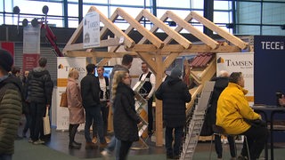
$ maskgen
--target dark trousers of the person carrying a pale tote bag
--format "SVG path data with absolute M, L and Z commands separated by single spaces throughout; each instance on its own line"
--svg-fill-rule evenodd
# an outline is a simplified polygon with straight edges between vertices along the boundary
M 44 137 L 44 135 L 42 135 L 44 133 L 43 117 L 45 116 L 46 105 L 44 103 L 31 102 L 29 108 L 31 116 L 29 128 L 30 138 L 33 141 L 36 141 L 38 140 L 39 136 Z

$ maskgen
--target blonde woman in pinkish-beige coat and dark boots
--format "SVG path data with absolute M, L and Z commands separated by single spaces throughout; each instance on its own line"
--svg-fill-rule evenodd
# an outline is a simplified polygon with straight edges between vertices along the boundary
M 84 108 L 80 88 L 77 82 L 79 73 L 77 69 L 72 68 L 69 71 L 68 85 L 66 93 L 68 97 L 69 108 L 69 148 L 81 148 L 81 143 L 74 140 L 79 124 L 85 123 Z

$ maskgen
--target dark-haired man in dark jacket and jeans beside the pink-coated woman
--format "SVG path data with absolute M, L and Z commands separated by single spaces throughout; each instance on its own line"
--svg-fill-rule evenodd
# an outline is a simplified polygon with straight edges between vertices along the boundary
M 80 82 L 82 105 L 85 108 L 85 149 L 91 149 L 96 147 L 90 137 L 90 127 L 92 125 L 93 120 L 97 126 L 97 132 L 100 140 L 100 148 L 105 148 L 107 146 L 103 134 L 103 120 L 99 96 L 101 90 L 99 80 L 96 76 L 94 76 L 94 69 L 94 64 L 88 64 L 86 66 L 87 75 Z

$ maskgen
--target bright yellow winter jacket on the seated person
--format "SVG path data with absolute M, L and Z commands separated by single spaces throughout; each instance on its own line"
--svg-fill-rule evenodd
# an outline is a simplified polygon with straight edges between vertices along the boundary
M 250 125 L 246 119 L 261 119 L 248 105 L 245 97 L 248 91 L 238 84 L 229 83 L 221 93 L 216 108 L 216 125 L 222 126 L 228 134 L 240 134 L 248 131 Z

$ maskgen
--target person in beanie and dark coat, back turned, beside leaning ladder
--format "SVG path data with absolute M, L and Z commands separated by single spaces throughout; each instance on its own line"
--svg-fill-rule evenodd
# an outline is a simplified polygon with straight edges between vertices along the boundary
M 186 124 L 185 103 L 191 101 L 191 93 L 183 83 L 182 71 L 175 67 L 167 80 L 160 84 L 155 93 L 157 99 L 162 100 L 163 123 L 166 126 L 165 141 L 167 158 L 178 159 L 183 137 L 183 127 Z M 175 130 L 175 139 L 173 131 Z M 172 142 L 175 140 L 174 147 Z

